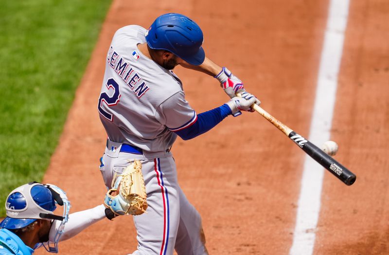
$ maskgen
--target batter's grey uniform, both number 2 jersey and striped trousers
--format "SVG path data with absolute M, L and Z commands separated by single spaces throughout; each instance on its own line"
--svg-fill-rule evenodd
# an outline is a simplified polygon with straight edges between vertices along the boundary
M 206 255 L 201 217 L 177 182 L 176 164 L 168 150 L 173 132 L 195 123 L 178 77 L 142 55 L 146 29 L 126 26 L 112 39 L 98 109 L 109 140 L 100 159 L 106 187 L 115 173 L 138 159 L 147 192 L 147 213 L 133 217 L 138 247 L 133 255 Z M 122 144 L 143 149 L 122 151 Z

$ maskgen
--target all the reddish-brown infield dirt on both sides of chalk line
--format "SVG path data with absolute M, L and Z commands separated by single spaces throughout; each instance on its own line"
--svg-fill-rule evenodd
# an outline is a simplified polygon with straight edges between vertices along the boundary
M 152 7 L 151 7 L 152 6 Z M 68 192 L 71 212 L 102 203 L 99 158 L 106 134 L 97 99 L 114 32 L 148 27 L 179 12 L 203 29 L 206 54 L 243 79 L 262 106 L 308 134 L 326 25 L 327 0 L 114 0 L 76 92 L 44 182 Z M 346 186 L 324 174 L 315 254 L 388 254 L 389 3 L 351 0 L 331 137 L 336 159 L 357 175 Z M 217 82 L 177 68 L 198 112 L 228 100 Z M 178 180 L 202 215 L 211 255 L 288 254 L 305 154 L 256 113 L 229 117 L 173 147 Z M 60 244 L 60 254 L 127 254 L 136 249 L 131 217 L 102 220 Z M 44 254 L 44 251 L 37 251 Z

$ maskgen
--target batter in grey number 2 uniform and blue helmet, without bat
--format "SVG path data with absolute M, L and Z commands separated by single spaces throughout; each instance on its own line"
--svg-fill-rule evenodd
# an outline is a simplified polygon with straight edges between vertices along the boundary
M 205 57 L 203 33 L 190 18 L 170 13 L 148 30 L 130 25 L 113 36 L 98 111 L 108 135 L 100 170 L 108 189 L 115 173 L 139 160 L 148 208 L 134 216 L 138 248 L 133 255 L 207 254 L 201 218 L 177 182 L 170 148 L 207 132 L 228 115 L 251 111 L 259 100 L 228 69 Z M 181 65 L 214 76 L 231 97 L 197 114 L 171 70 Z M 235 92 L 241 92 L 242 98 Z

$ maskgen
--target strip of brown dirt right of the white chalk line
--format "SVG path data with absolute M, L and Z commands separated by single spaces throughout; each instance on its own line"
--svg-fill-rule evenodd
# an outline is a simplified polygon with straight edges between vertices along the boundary
M 316 254 L 389 254 L 389 2 L 353 0 L 332 138 L 353 186 L 326 175 Z

